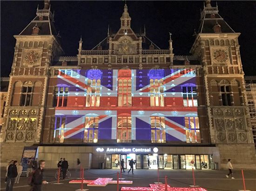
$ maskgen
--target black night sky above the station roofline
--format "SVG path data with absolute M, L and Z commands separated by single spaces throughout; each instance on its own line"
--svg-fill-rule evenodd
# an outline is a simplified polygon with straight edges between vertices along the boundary
M 241 32 L 241 58 L 245 75 L 256 75 L 256 1 L 217 1 L 219 14 Z M 1 76 L 8 76 L 13 62 L 15 39 L 34 19 L 40 1 L 0 1 L 1 6 Z M 211 2 L 212 6 L 216 1 Z M 168 48 L 172 32 L 175 55 L 189 55 L 197 31 L 203 1 L 127 1 L 135 32 L 143 31 L 161 49 Z M 83 49 L 92 49 L 107 37 L 108 24 L 113 32 L 120 27 L 124 1 L 51 1 L 55 26 L 60 30 L 66 56 L 75 56 L 82 35 Z

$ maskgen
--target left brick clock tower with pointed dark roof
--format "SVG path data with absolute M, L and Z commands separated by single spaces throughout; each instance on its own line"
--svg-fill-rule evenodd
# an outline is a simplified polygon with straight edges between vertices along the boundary
M 14 35 L 13 65 L 10 73 L 5 121 L 0 134 L 1 161 L 22 157 L 23 148 L 40 142 L 45 115 L 49 66 L 64 52 L 54 27 L 49 0 L 36 9 L 35 18 Z M 19 146 L 17 146 L 19 143 Z M 10 151 L 15 152 L 11 153 Z

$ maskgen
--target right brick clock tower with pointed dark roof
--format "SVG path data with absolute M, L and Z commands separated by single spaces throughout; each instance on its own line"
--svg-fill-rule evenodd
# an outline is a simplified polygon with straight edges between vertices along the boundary
M 253 163 L 255 153 L 239 51 L 239 32 L 220 16 L 218 6 L 206 0 L 190 53 L 200 57 L 204 79 L 210 140 L 216 144 L 221 167 L 227 159 Z M 250 152 L 243 151 L 250 146 Z M 236 156 L 235 156 L 236 155 Z M 248 155 L 248 156 L 247 156 Z

